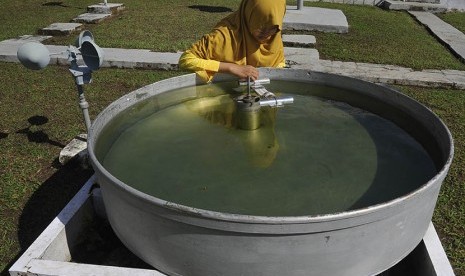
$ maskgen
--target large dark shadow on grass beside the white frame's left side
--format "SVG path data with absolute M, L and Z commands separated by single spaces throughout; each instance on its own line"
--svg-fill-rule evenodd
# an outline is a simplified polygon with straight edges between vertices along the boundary
M 55 161 L 55 163 L 58 163 Z M 59 166 L 53 164 L 53 166 Z M 49 177 L 30 197 L 18 222 L 18 240 L 21 251 L 5 267 L 0 275 L 9 275 L 8 270 L 32 242 L 42 233 L 71 198 L 93 174 L 78 161 L 71 160 Z

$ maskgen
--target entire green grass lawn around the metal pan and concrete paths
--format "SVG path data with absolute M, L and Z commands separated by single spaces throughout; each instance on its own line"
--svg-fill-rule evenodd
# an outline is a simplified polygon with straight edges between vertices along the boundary
M 132 0 L 125 3 L 127 10 L 120 15 L 85 27 L 102 47 L 180 51 L 235 10 L 239 2 Z M 0 40 L 36 34 L 39 28 L 54 22 L 68 22 L 84 13 L 90 4 L 95 2 L 4 1 L 0 9 Z M 370 6 L 306 5 L 341 9 L 350 25 L 348 34 L 312 32 L 322 58 L 416 69 L 465 70 L 463 63 L 407 13 Z M 441 15 L 459 29 L 464 28 L 464 16 Z M 74 40 L 72 35 L 47 43 L 68 45 Z M 19 64 L 0 63 L 0 72 L 0 271 L 7 275 L 11 264 L 92 171 L 75 164 L 63 167 L 56 160 L 61 148 L 85 131 L 68 68 L 49 66 L 30 71 Z M 95 118 L 110 102 L 138 87 L 178 74 L 182 72 L 101 69 L 93 74 L 94 82 L 85 86 L 90 115 Z M 454 162 L 441 189 L 434 223 L 455 273 L 465 275 L 465 91 L 399 89 L 436 112 L 455 139 Z

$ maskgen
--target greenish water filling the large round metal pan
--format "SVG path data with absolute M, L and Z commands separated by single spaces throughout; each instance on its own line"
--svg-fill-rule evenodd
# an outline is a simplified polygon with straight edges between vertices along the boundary
M 435 174 L 421 145 L 395 124 L 304 93 L 305 87 L 276 82 L 270 91 L 301 95 L 283 108 L 262 108 L 261 127 L 253 131 L 236 128 L 230 84 L 183 88 L 196 96 L 124 130 L 103 165 L 164 200 L 264 216 L 362 208 L 404 195 Z

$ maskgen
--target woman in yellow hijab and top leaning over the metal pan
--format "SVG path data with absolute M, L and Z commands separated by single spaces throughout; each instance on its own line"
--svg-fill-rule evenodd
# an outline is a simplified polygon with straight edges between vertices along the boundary
M 182 54 L 180 68 L 209 82 L 217 72 L 256 80 L 256 67 L 284 67 L 285 12 L 285 0 L 242 0 L 239 10 Z

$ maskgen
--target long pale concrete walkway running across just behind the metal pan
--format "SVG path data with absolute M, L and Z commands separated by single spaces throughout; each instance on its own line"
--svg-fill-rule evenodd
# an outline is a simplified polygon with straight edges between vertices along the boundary
M 19 62 L 18 48 L 32 38 L 11 39 L 0 42 L 0 61 Z M 67 46 L 46 45 L 51 56 L 51 64 L 68 65 Z M 149 50 L 128 50 L 103 48 L 102 67 L 145 68 L 176 70 L 181 53 L 158 53 Z M 316 49 L 284 47 L 290 67 L 327 72 L 360 78 L 363 80 L 387 83 L 416 85 L 423 87 L 445 87 L 465 89 L 465 71 L 458 70 L 413 70 L 394 65 L 341 62 L 319 59 Z M 78 63 L 82 64 L 78 56 Z

